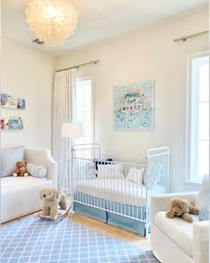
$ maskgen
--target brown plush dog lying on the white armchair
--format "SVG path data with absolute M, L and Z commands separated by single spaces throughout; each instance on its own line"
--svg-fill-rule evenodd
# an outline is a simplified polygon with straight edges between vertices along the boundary
M 173 198 L 171 200 L 171 210 L 166 212 L 166 218 L 180 217 L 186 222 L 192 223 L 190 214 L 198 215 L 199 210 L 195 207 L 194 201 Z

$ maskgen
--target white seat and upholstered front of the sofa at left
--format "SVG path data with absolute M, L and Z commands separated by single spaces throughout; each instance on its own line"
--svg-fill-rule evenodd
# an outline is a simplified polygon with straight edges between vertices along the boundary
M 1 223 L 41 210 L 39 191 L 45 187 L 52 187 L 52 180 L 30 176 L 1 178 Z

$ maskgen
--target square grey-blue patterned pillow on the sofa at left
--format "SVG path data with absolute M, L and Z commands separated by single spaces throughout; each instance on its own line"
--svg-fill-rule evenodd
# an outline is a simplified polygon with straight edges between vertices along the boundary
M 24 159 L 24 146 L 0 150 L 1 177 L 12 176 L 18 160 Z

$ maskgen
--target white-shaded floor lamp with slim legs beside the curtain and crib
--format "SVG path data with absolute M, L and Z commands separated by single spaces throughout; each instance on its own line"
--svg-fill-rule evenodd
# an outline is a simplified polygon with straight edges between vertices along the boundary
M 66 160 L 67 163 L 65 164 L 65 172 L 64 172 L 64 176 L 62 177 L 62 188 L 63 185 L 65 183 L 65 179 L 67 176 L 70 176 L 70 190 L 72 192 L 72 186 L 73 186 L 73 161 L 72 161 L 72 139 L 73 138 L 79 138 L 79 137 L 83 137 L 83 127 L 81 123 L 74 123 L 74 122 L 68 122 L 68 123 L 63 123 L 62 125 L 62 129 L 61 129 L 61 137 L 63 138 L 68 138 L 70 140 L 70 147 L 69 147 L 69 151 L 68 151 L 68 155 L 66 156 Z M 70 154 L 71 152 L 71 154 Z M 68 160 L 69 158 L 71 159 L 70 161 L 70 175 L 67 175 L 67 164 L 68 164 Z

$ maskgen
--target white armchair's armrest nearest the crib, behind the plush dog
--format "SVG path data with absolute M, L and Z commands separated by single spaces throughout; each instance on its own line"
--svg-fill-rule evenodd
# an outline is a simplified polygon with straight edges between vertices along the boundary
M 198 192 L 190 193 L 165 193 L 151 196 L 151 225 L 158 211 L 167 211 L 171 207 L 171 199 L 179 197 L 183 199 L 195 200 Z

